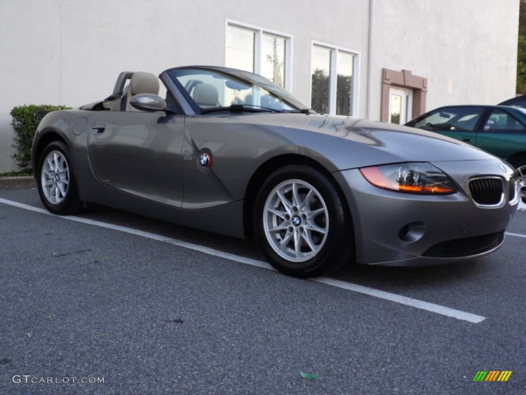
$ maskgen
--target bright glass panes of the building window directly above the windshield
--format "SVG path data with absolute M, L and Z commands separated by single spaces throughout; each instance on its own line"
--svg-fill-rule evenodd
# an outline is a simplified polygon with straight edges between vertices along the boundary
M 227 22 L 226 32 L 227 67 L 260 74 L 290 90 L 290 35 L 234 22 Z

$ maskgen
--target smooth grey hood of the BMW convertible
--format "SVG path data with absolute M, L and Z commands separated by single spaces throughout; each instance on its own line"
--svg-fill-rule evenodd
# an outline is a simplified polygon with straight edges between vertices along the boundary
M 397 162 L 495 160 L 495 156 L 420 129 L 343 116 L 296 113 L 235 115 L 232 120 L 279 134 L 326 157 L 333 170 Z

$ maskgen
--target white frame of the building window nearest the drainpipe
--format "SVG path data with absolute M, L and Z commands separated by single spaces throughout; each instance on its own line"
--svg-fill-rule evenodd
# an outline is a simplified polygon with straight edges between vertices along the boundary
M 312 107 L 312 48 L 314 46 L 325 48 L 330 51 L 330 68 L 329 68 L 329 115 L 336 115 L 336 92 L 338 83 L 338 53 L 346 53 L 353 56 L 352 61 L 352 105 L 349 116 L 358 116 L 359 110 L 359 92 L 360 92 L 360 60 L 361 53 L 350 48 L 332 45 L 321 41 L 312 40 L 310 43 L 310 89 L 309 89 L 309 106 Z

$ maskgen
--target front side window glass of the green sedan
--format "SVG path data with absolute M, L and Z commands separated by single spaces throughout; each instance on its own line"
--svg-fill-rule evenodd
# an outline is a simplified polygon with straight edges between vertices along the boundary
M 426 130 L 473 132 L 482 114 L 480 107 L 448 107 L 422 118 L 415 127 Z

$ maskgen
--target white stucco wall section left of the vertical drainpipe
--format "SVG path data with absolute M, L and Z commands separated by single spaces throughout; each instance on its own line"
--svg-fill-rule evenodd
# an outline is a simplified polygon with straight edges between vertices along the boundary
M 331 3 L 356 22 L 367 21 L 367 2 Z M 0 0 L 0 51 L 6 60 L 0 62 L 0 78 L 9 92 L 0 95 L 0 173 L 15 168 L 9 159 L 9 111 L 15 105 L 75 107 L 99 100 L 124 70 L 224 65 L 227 19 L 293 36 L 292 91 L 306 103 L 312 40 L 366 51 L 362 23 L 349 23 L 311 0 Z

